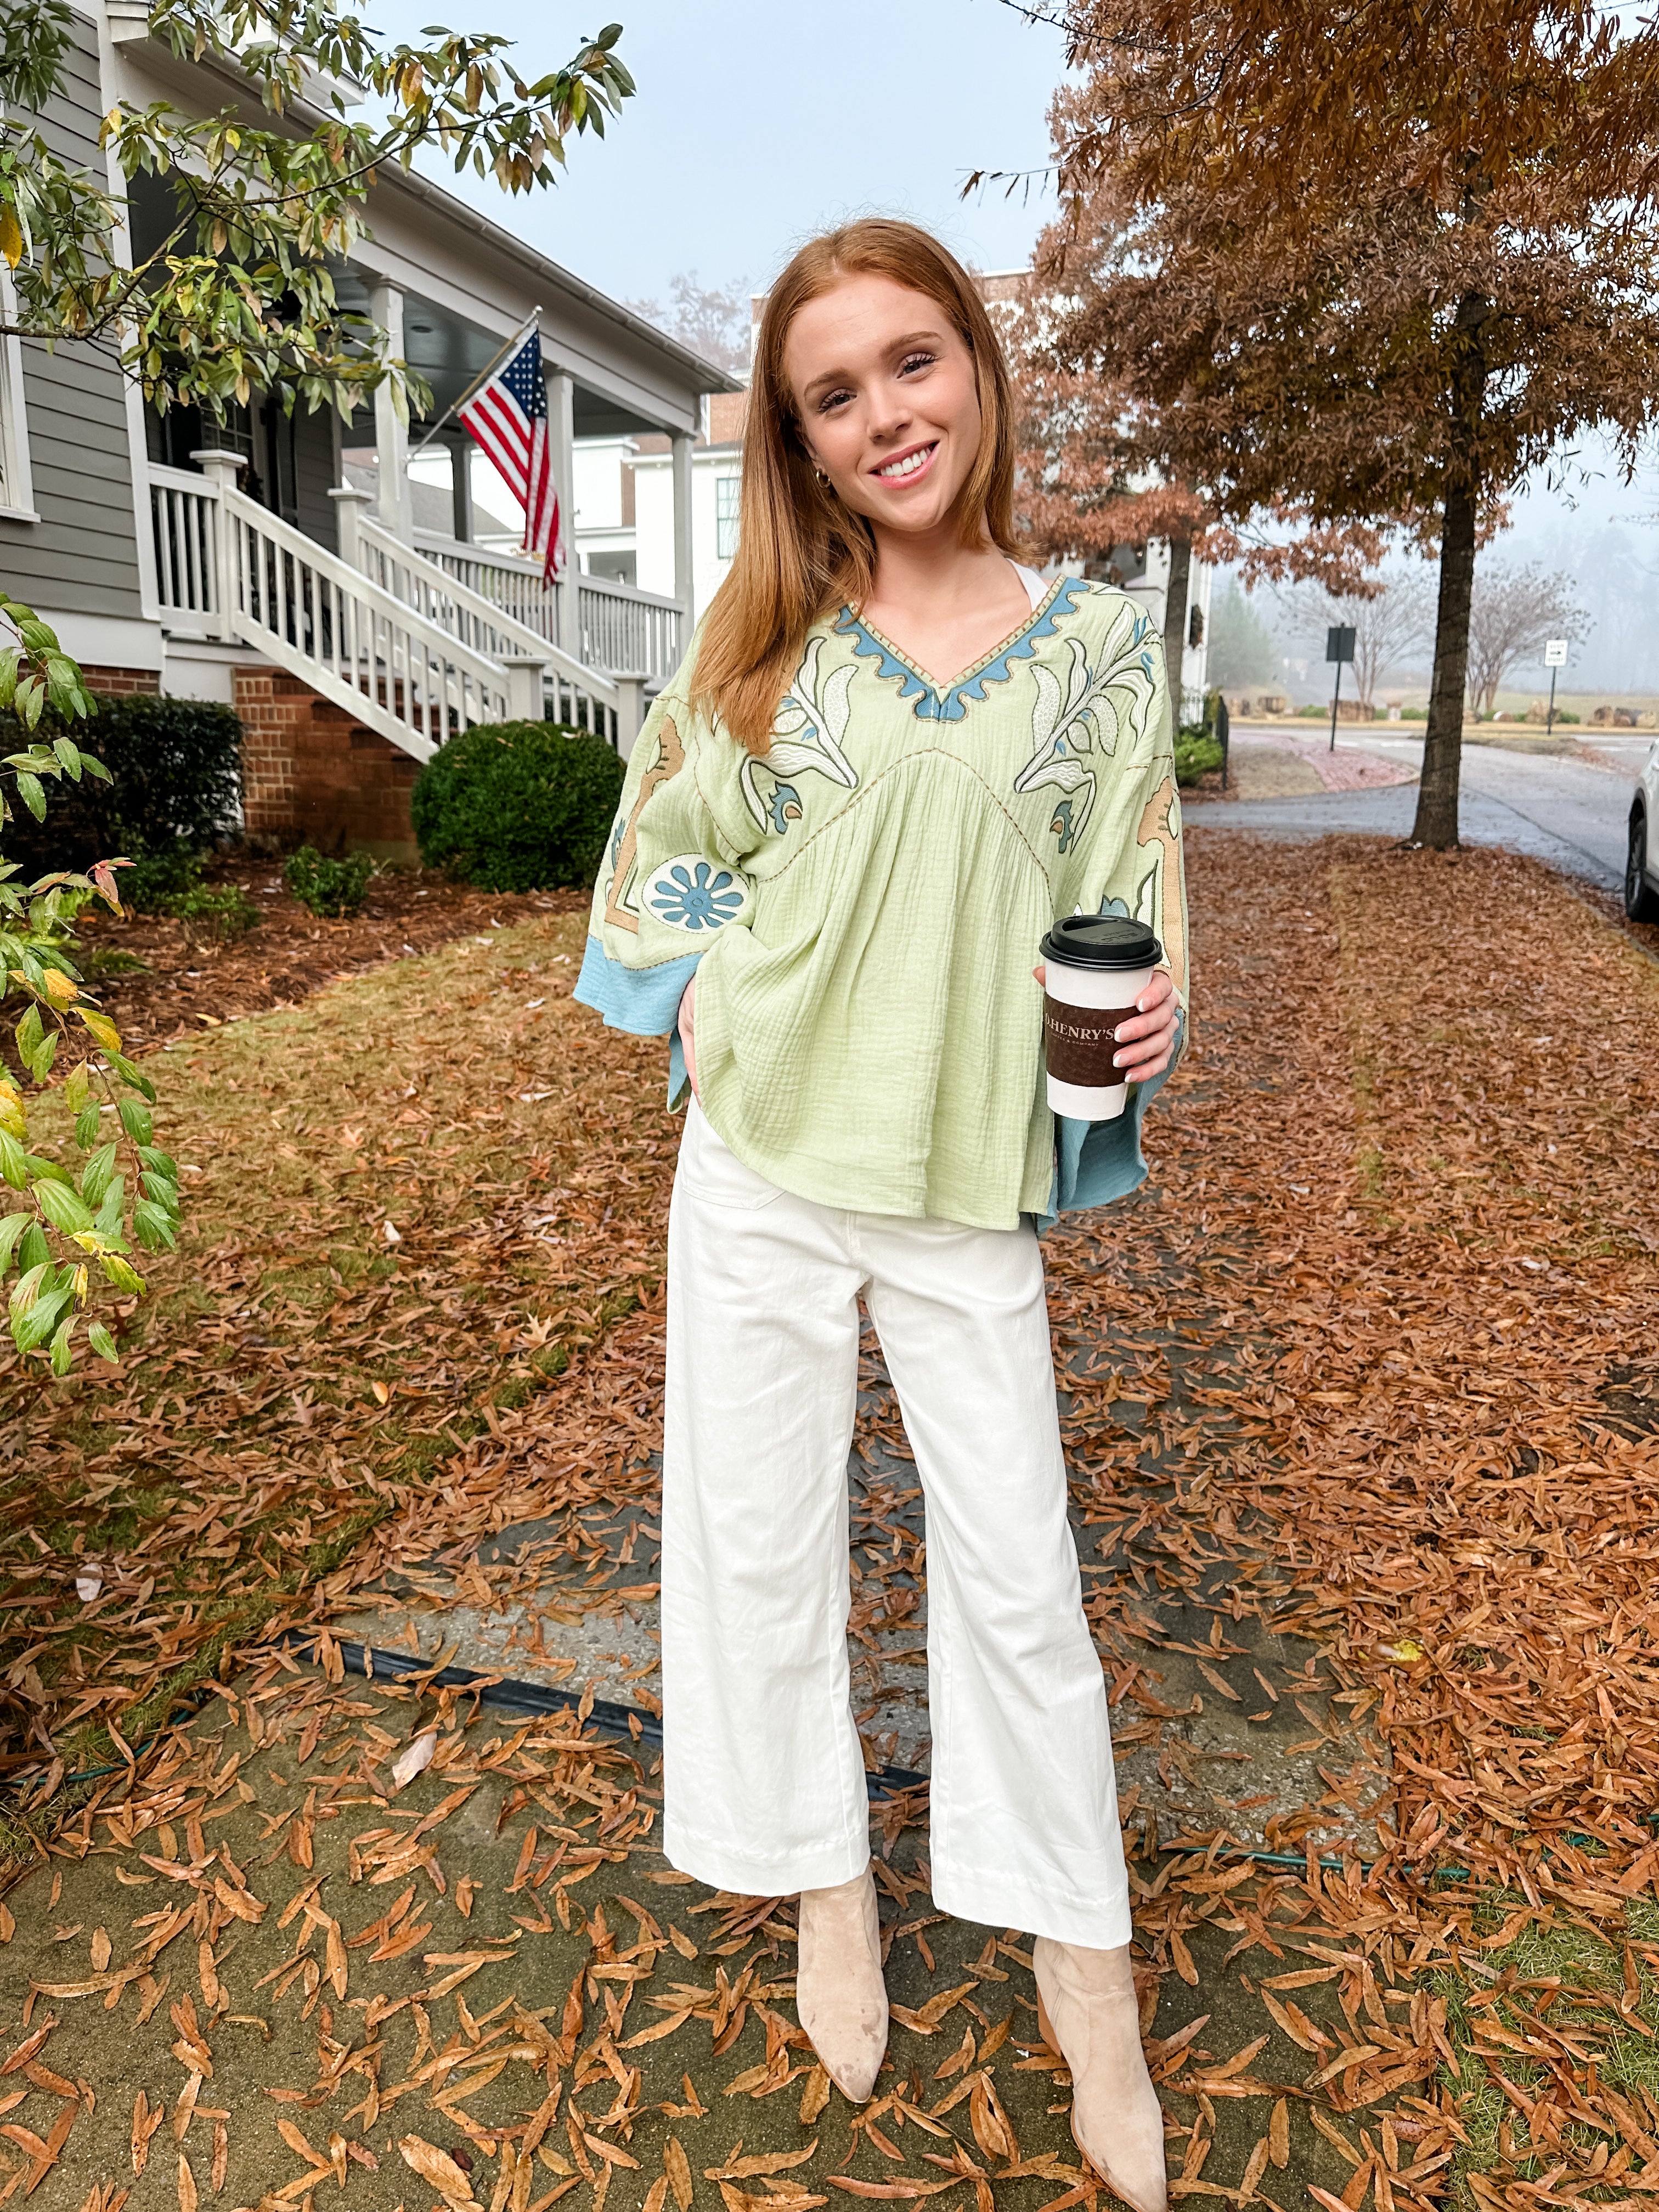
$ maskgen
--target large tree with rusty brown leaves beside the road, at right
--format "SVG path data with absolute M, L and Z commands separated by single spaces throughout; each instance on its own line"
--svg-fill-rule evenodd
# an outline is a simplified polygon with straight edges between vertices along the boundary
M 1413 841 L 1458 843 L 1475 549 L 1659 414 L 1659 29 L 1586 0 L 1077 0 L 1044 241 L 1055 365 L 1228 529 L 1440 549 Z

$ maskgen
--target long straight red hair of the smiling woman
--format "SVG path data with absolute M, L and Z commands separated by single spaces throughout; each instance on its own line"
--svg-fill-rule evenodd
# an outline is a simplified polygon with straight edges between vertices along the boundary
M 980 396 L 980 449 L 958 500 L 958 535 L 964 546 L 989 538 L 1013 553 L 1013 394 L 973 279 L 916 223 L 872 217 L 812 239 L 772 285 L 761 316 L 737 560 L 714 593 L 692 672 L 692 703 L 719 714 L 757 754 L 770 750 L 779 699 L 812 624 L 836 606 L 860 606 L 876 580 L 869 524 L 818 482 L 783 374 L 796 314 L 843 276 L 889 276 L 949 314 L 973 356 Z

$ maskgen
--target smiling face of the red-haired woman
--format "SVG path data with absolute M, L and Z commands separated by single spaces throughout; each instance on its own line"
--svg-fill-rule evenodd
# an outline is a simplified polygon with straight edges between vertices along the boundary
M 796 420 L 836 495 L 878 531 L 949 524 L 980 451 L 973 354 L 949 314 L 891 276 L 843 276 L 783 345 Z

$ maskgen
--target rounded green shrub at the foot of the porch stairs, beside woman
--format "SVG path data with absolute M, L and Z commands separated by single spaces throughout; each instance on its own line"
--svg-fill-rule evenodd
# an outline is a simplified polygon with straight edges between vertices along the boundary
M 586 887 L 599 874 L 622 779 L 622 761 L 591 730 L 553 721 L 462 730 L 416 779 L 420 858 L 482 891 Z

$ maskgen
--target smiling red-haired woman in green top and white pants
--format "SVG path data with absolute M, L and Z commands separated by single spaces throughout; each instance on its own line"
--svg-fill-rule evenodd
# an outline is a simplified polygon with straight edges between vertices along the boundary
M 577 995 L 672 1035 L 670 1104 L 692 1093 L 664 1849 L 721 1889 L 801 1891 L 801 2024 L 863 2101 L 887 2046 L 845 1646 L 863 1296 L 927 1498 L 933 1898 L 1035 1931 L 1077 2143 L 1152 2212 L 1035 1223 L 1146 1172 L 1186 980 L 1179 807 L 1146 617 L 1020 568 L 1011 498 L 969 276 L 907 223 L 805 246 L 761 321 L 737 562 L 635 745 Z M 1077 909 L 1152 922 L 1168 962 L 1119 1037 L 1130 1110 L 1097 1126 L 1044 1104 L 1033 960 Z

